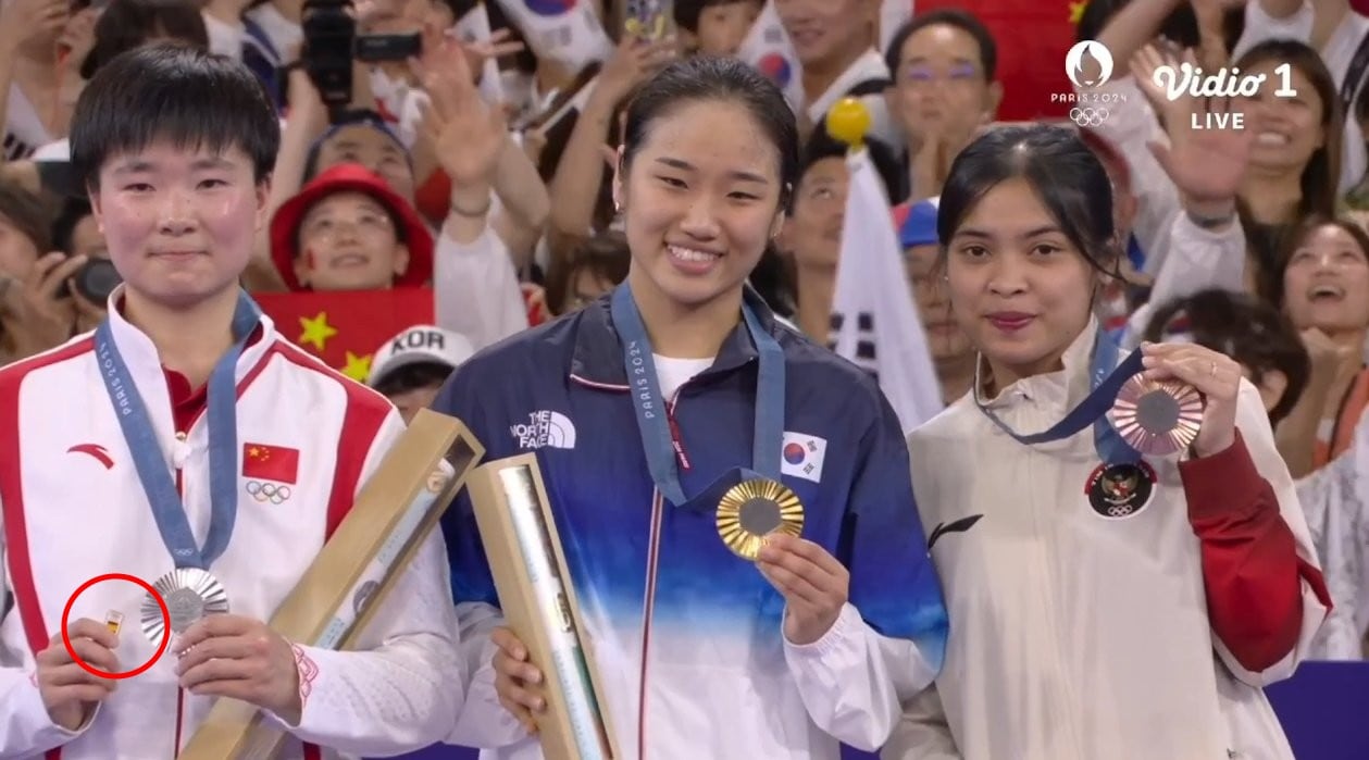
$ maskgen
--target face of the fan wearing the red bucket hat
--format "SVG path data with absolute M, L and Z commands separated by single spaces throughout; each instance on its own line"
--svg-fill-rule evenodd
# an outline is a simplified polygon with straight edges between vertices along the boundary
M 315 203 L 300 220 L 296 277 L 315 290 L 390 288 L 408 267 L 394 219 L 364 193 L 340 192 Z

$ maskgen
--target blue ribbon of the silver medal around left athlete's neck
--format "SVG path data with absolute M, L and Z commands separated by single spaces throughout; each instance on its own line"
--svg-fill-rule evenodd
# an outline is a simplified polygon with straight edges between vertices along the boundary
M 157 522 L 162 541 L 178 568 L 196 567 L 208 570 L 209 564 L 229 546 L 233 523 L 237 518 L 237 381 L 235 370 L 248 337 L 257 326 L 261 311 L 245 292 L 240 292 L 238 304 L 233 312 L 233 348 L 219 359 L 209 374 L 209 531 L 204 548 L 196 545 L 185 504 L 177 492 L 175 481 L 162 459 L 162 445 L 157 442 L 148 416 L 146 405 L 138 393 L 127 364 L 119 355 L 110 327 L 110 318 L 94 331 L 96 359 L 100 362 L 100 378 L 110 393 L 115 416 L 123 430 L 123 440 L 133 455 L 133 466 L 138 481 L 152 505 L 152 516 Z

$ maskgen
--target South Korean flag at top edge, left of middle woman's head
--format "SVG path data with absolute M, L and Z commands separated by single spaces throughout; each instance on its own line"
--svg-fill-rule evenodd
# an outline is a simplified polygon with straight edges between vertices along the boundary
M 578 73 L 606 60 L 613 42 L 589 0 L 498 0 L 533 53 Z

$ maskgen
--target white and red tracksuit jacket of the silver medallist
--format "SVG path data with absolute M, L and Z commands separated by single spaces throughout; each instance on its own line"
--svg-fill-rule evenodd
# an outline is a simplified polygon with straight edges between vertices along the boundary
M 203 545 L 211 514 L 207 415 L 177 430 L 156 348 L 112 308 L 119 297 L 110 308 L 114 340 Z M 170 652 L 119 681 L 78 731 L 51 722 L 36 685 L 34 655 L 60 630 L 77 589 L 108 572 L 152 583 L 174 567 L 93 346 L 81 335 L 0 370 L 0 759 L 171 759 L 214 702 L 178 687 Z M 237 383 L 237 520 L 209 570 L 226 587 L 231 613 L 270 620 L 402 422 L 382 396 L 283 340 L 267 318 L 238 360 Z M 296 466 L 249 466 L 245 452 L 253 445 L 297 457 Z M 123 671 L 156 652 L 140 630 L 144 594 L 131 582 L 105 581 L 70 601 L 71 620 L 123 613 L 115 650 Z M 397 755 L 446 737 L 461 701 L 455 630 L 445 548 L 434 534 L 359 650 L 297 649 L 301 722 L 289 727 L 268 715 L 294 737 L 283 756 Z

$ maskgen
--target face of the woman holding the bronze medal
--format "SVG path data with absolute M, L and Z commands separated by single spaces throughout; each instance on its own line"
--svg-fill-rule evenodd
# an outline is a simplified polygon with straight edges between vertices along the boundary
M 1088 325 L 1097 277 L 1023 178 L 994 185 L 947 245 L 951 312 L 998 388 L 1060 367 Z

